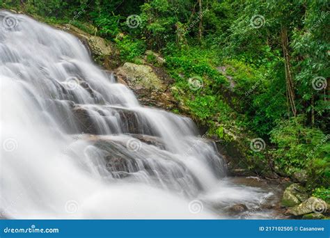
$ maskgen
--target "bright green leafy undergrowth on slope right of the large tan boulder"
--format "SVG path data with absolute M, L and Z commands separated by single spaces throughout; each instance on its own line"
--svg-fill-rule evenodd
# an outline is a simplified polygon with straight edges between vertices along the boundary
M 212 61 L 207 55 L 212 51 L 197 51 L 195 48 L 175 51 L 174 55 L 166 57 L 166 68 L 175 79 L 175 86 L 178 92 L 175 95 L 178 100 L 189 106 L 191 113 L 198 120 L 207 122 L 217 119 L 220 111 L 223 115 L 229 113 L 229 106 L 223 102 L 221 95 L 217 94 L 221 88 L 228 86 L 226 77 L 212 66 Z M 188 53 L 188 54 L 187 54 Z M 189 79 L 194 77 L 202 81 L 201 88 L 191 89 Z

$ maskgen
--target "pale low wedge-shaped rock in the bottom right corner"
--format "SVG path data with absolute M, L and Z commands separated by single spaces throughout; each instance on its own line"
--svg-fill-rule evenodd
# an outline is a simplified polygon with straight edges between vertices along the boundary
M 311 197 L 297 206 L 288 209 L 287 213 L 294 216 L 309 214 L 309 213 L 321 214 L 327 212 L 327 203 L 320 198 Z

